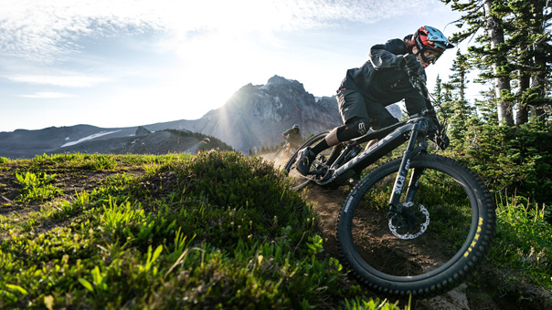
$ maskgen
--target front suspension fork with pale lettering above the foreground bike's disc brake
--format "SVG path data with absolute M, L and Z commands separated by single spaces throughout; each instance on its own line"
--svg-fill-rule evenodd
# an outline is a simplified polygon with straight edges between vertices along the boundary
M 389 199 L 389 206 L 391 207 L 391 209 L 398 206 L 400 195 L 402 194 L 404 189 L 404 183 L 407 180 L 407 176 L 409 174 L 410 160 L 415 154 L 418 153 L 418 150 L 415 150 L 415 147 L 416 139 L 418 138 L 419 128 L 420 125 L 415 124 L 414 128 L 410 131 L 409 145 L 407 146 L 407 150 L 405 150 L 402 156 L 402 160 L 400 161 L 397 178 L 395 179 L 395 184 L 393 185 L 393 192 L 391 193 L 391 198 Z M 416 187 L 418 186 L 421 172 L 423 172 L 423 170 L 412 170 L 412 176 L 410 177 L 407 190 L 406 202 L 410 202 L 413 199 L 414 194 L 416 193 Z

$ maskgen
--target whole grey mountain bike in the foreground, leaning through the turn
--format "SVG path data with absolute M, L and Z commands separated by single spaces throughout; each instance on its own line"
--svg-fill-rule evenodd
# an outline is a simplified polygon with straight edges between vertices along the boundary
M 324 151 L 307 176 L 295 171 L 298 152 L 284 170 L 301 182 L 295 189 L 308 182 L 327 188 L 351 184 L 336 227 L 345 265 L 381 294 L 425 297 L 449 291 L 472 274 L 490 250 L 496 222 L 483 181 L 462 163 L 430 153 L 428 140 L 446 127 L 424 80 L 410 82 L 428 109 Z M 313 135 L 300 150 L 329 132 Z M 377 143 L 363 150 L 371 140 Z M 364 174 L 405 144 L 402 157 Z

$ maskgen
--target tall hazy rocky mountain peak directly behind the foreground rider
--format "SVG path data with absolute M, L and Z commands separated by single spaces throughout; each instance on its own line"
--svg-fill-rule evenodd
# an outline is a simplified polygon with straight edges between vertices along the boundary
M 334 97 L 316 100 L 296 80 L 273 76 L 265 85 L 248 84 L 220 109 L 186 122 L 183 129 L 218 137 L 249 152 L 278 145 L 281 133 L 299 124 L 306 138 L 341 123 Z

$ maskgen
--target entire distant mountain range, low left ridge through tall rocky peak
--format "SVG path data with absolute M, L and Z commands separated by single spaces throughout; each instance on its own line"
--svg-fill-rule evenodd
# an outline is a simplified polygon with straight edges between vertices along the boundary
M 392 113 L 399 115 L 400 109 L 395 108 Z M 305 138 L 322 129 L 342 124 L 335 96 L 314 98 L 303 88 L 302 83 L 274 76 L 265 85 L 248 84 L 239 88 L 224 106 L 208 111 L 200 119 L 180 119 L 126 128 L 76 125 L 0 132 L 0 156 L 11 159 L 32 158 L 44 153 L 69 151 L 192 153 L 194 143 L 200 141 L 189 140 L 188 145 L 181 140 L 172 140 L 174 135 L 170 132 L 158 133 L 165 129 L 214 137 L 229 148 L 249 153 L 249 150 L 279 144 L 281 133 L 293 124 L 301 127 Z M 151 134 L 147 134 L 148 131 Z M 139 148 L 133 140 L 141 140 L 140 143 L 147 145 L 147 148 Z

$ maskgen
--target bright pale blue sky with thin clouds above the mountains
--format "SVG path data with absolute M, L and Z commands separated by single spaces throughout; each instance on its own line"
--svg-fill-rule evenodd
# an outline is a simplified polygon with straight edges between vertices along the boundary
M 279 75 L 332 96 L 369 47 L 460 15 L 439 0 L 0 0 L 0 131 L 199 119 Z M 445 27 L 446 26 L 446 27 Z M 465 47 L 460 47 L 462 52 Z M 426 71 L 450 75 L 455 50 Z

